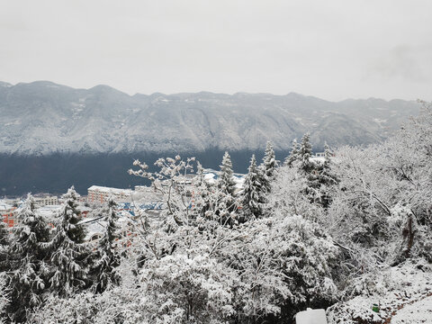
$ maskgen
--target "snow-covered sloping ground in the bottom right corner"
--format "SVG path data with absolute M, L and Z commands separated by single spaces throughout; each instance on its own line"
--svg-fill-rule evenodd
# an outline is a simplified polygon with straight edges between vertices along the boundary
M 432 269 L 428 264 L 390 267 L 358 284 L 365 293 L 330 307 L 329 324 L 432 323 Z M 374 303 L 380 311 L 372 311 Z

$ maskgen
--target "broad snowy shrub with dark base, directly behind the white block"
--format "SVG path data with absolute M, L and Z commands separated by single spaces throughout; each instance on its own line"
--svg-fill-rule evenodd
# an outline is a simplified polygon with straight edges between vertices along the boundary
M 242 225 L 218 256 L 238 271 L 238 318 L 291 319 L 307 306 L 335 302 L 339 249 L 317 223 L 277 215 Z

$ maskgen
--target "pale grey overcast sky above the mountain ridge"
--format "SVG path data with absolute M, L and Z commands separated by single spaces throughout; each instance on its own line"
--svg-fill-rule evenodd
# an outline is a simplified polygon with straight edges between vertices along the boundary
M 431 0 L 0 0 L 0 80 L 432 100 Z

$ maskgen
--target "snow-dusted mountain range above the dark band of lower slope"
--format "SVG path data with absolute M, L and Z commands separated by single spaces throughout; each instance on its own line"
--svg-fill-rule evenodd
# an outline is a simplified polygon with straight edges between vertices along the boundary
M 291 148 L 309 131 L 322 149 L 381 141 L 419 112 L 412 101 L 329 102 L 302 94 L 122 93 L 48 81 L 0 83 L 0 154 L 197 152 Z

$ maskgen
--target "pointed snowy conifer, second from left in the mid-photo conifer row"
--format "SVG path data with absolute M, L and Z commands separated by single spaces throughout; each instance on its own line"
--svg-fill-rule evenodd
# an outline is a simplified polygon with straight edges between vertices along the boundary
M 266 202 L 266 196 L 264 195 L 265 188 L 263 188 L 263 184 L 261 184 L 261 179 L 262 176 L 257 167 L 257 160 L 255 155 L 252 155 L 245 178 L 245 184 L 243 185 L 243 192 L 241 193 L 244 220 L 263 216 L 263 203 Z

